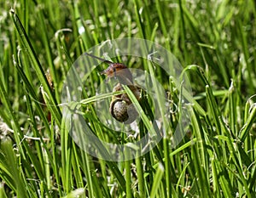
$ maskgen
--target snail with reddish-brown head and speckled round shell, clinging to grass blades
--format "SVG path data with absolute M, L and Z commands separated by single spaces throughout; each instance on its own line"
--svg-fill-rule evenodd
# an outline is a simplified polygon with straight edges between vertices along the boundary
M 107 63 L 109 65 L 105 71 L 101 72 L 101 74 L 104 74 L 108 77 L 116 77 L 119 80 L 119 83 L 113 88 L 113 92 L 123 90 L 122 84 L 125 84 L 128 86 L 128 88 L 131 89 L 137 100 L 140 99 L 141 89 L 133 84 L 131 71 L 124 64 L 113 63 L 111 61 L 108 61 L 107 59 L 102 59 L 92 54 L 85 54 L 89 55 L 92 58 L 100 59 L 104 63 Z M 114 119 L 125 124 L 130 124 L 131 122 L 134 122 L 138 116 L 137 110 L 131 103 L 131 100 L 126 93 L 122 93 L 112 97 L 109 112 Z

